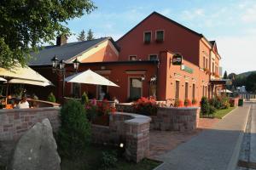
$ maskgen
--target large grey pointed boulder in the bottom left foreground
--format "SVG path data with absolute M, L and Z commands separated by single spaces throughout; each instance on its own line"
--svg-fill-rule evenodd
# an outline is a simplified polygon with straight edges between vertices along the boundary
M 18 141 L 11 170 L 60 170 L 61 158 L 48 119 L 36 123 Z

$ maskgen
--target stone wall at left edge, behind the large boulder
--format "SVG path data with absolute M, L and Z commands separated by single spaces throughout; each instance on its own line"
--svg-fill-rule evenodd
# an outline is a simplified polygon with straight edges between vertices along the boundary
M 56 132 L 60 107 L 0 110 L 0 140 L 16 140 L 36 122 L 48 118 Z

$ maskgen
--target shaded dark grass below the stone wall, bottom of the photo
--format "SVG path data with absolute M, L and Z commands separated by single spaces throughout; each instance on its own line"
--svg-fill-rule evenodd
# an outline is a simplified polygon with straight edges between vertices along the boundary
M 91 145 L 85 151 L 83 156 L 80 156 L 75 160 L 68 160 L 61 158 L 61 170 L 102 170 L 102 151 L 115 150 L 113 148 L 108 148 L 108 146 L 96 146 Z M 124 158 L 118 157 L 118 161 L 113 168 L 108 168 L 109 170 L 152 170 L 154 167 L 160 165 L 160 161 L 153 161 L 144 159 L 139 163 L 134 163 L 130 161 L 125 161 Z

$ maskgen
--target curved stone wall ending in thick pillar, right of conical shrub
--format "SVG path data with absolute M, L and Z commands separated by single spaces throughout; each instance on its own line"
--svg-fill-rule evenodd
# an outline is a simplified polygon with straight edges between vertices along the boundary
M 149 152 L 151 118 L 132 113 L 116 112 L 110 116 L 109 127 L 92 125 L 93 141 L 97 144 L 125 144 L 125 156 L 141 161 Z

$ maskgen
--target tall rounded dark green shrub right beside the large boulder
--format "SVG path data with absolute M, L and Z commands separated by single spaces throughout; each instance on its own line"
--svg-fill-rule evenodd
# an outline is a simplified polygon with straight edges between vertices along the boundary
M 90 143 L 90 123 L 86 118 L 84 106 L 71 99 L 61 108 L 61 127 L 58 144 L 61 156 L 75 158 Z

